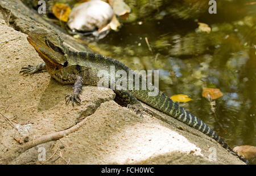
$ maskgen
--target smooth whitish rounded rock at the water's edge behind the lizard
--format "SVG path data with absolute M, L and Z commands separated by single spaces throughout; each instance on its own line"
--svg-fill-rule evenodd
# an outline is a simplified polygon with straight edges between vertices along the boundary
M 108 24 L 113 15 L 112 8 L 106 2 L 100 0 L 84 2 L 72 9 L 68 27 L 77 31 L 93 31 Z

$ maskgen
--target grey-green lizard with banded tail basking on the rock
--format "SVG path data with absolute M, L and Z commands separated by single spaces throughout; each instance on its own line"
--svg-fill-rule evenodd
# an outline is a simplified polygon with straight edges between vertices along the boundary
M 100 78 L 98 77 L 98 72 L 106 70 L 109 73 L 111 66 L 115 66 L 115 68 L 117 68 L 116 70 L 123 70 L 126 73 L 131 72 L 135 76 L 138 76 L 141 82 L 146 79 L 142 75 L 130 70 L 130 68 L 123 63 L 108 56 L 71 50 L 64 46 L 63 38 L 56 33 L 51 33 L 44 29 L 36 29 L 29 32 L 27 40 L 35 48 L 44 62 L 37 66 L 28 65 L 27 67 L 22 67 L 20 73 L 30 75 L 42 70 L 47 70 L 52 78 L 60 83 L 74 84 L 73 92 L 70 95 L 65 96 L 66 104 L 68 104 L 69 101 L 72 102 L 72 105 L 74 105 L 75 102 L 81 104 L 80 94 L 82 85 L 99 85 Z M 110 74 L 110 76 L 106 76 L 105 79 L 111 87 L 111 80 L 117 81 L 118 78 L 117 76 L 111 76 Z M 234 152 L 232 148 L 230 148 L 229 145 L 212 130 L 212 128 L 201 121 L 201 119 L 195 117 L 195 115 L 189 113 L 177 102 L 172 101 L 170 97 L 154 87 L 152 83 L 149 83 L 148 85 L 153 87 L 154 90 L 157 90 L 158 93 L 155 96 L 148 96 L 148 93 L 152 92 L 152 89 L 149 89 L 149 86 L 146 89 L 142 89 L 142 85 L 139 85 L 139 89 L 136 89 L 134 81 L 131 84 L 133 86 L 129 90 L 112 87 L 116 97 L 118 97 L 124 105 L 127 105 L 127 108 L 134 110 L 137 114 L 140 113 L 141 116 L 143 113 L 152 115 L 150 110 L 143 108 L 141 102 L 139 102 L 140 100 L 152 108 L 162 111 L 163 113 L 184 122 L 186 125 L 203 132 L 205 135 L 216 140 L 227 151 L 230 151 L 240 158 L 240 160 L 247 163 L 247 161 Z

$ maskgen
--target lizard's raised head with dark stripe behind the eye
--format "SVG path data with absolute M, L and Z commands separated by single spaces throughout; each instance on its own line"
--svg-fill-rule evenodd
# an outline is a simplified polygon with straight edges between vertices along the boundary
M 38 51 L 44 62 L 64 67 L 68 65 L 68 50 L 63 45 L 63 39 L 57 34 L 44 29 L 36 29 L 28 33 L 27 40 Z

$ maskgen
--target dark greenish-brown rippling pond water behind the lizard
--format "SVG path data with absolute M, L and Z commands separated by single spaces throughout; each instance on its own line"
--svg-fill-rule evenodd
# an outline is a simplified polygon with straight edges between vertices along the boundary
M 208 123 L 230 147 L 256 146 L 255 11 L 256 5 L 234 1 L 224 3 L 217 14 L 205 12 L 193 20 L 145 19 L 139 21 L 142 24 L 122 24 L 118 32 L 92 45 L 133 70 L 159 70 L 160 90 L 168 96 L 191 97 L 193 101 L 181 105 Z M 198 32 L 197 22 L 208 24 L 212 31 Z M 216 117 L 201 95 L 205 85 L 224 94 L 214 101 Z

